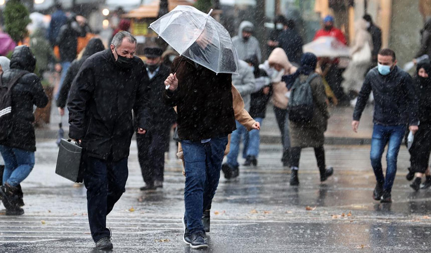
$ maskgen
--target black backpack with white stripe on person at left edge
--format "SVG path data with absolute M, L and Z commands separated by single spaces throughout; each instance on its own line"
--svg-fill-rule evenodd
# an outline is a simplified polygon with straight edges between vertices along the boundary
M 0 140 L 7 137 L 10 131 L 12 118 L 12 89 L 18 80 L 27 74 L 27 71 L 20 71 L 14 75 L 7 85 L 3 85 L 3 73 L 0 75 Z

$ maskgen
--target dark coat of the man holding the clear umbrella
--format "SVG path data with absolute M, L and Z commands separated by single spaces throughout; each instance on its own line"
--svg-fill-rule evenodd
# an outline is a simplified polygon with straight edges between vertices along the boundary
M 232 74 L 208 70 L 182 57 L 176 57 L 178 88 L 164 92 L 164 103 L 177 106 L 178 137 L 200 141 L 228 136 L 236 129 L 232 102 Z

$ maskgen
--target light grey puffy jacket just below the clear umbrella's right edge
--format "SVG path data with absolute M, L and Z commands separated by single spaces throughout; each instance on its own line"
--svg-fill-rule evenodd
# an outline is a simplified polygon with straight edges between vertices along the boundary
M 255 90 L 255 76 L 253 75 L 252 68 L 245 61 L 238 61 L 238 72 L 232 74 L 232 84 L 240 92 L 244 100 L 244 108 L 250 110 L 250 95 Z

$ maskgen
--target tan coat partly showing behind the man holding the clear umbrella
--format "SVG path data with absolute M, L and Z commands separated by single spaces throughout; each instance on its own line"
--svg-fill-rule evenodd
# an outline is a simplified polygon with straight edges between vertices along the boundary
M 232 85 L 232 101 L 234 107 L 235 119 L 240 122 L 241 125 L 247 128 L 247 131 L 252 130 L 253 124 L 255 124 L 255 120 L 250 116 L 250 114 L 244 109 L 244 101 L 240 95 L 240 92 Z M 225 155 L 229 154 L 230 144 L 231 144 L 231 135 L 228 136 L 229 142 L 226 145 Z M 181 159 L 184 162 L 184 154 L 182 151 L 181 143 L 178 143 L 178 153 L 176 153 L 178 159 Z M 184 171 L 183 171 L 184 173 Z

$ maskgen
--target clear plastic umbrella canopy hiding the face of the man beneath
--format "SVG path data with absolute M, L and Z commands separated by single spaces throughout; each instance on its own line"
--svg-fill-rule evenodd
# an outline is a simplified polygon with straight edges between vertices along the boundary
M 191 6 L 177 6 L 150 24 L 180 55 L 215 73 L 238 74 L 238 58 L 229 32 Z

